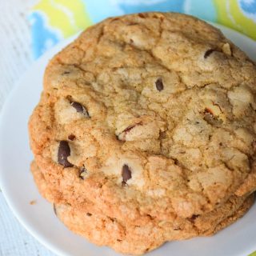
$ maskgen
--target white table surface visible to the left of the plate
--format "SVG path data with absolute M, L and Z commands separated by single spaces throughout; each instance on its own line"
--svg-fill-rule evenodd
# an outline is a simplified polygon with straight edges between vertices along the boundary
M 33 63 L 26 14 L 36 1 L 0 0 L 0 110 L 15 82 Z M 19 224 L 2 192 L 0 256 L 54 256 Z

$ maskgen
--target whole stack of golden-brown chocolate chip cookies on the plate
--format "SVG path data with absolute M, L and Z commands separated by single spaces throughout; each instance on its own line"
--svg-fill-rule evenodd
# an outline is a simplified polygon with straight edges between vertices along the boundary
M 29 123 L 41 194 L 125 254 L 207 236 L 254 202 L 256 66 L 197 18 L 91 26 L 46 68 Z

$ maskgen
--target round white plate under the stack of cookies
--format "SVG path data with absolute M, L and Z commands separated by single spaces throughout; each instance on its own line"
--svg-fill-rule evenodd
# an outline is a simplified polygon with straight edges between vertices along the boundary
M 218 27 L 250 58 L 256 60 L 256 43 L 253 40 L 226 27 Z M 28 142 L 27 122 L 39 100 L 42 74 L 50 58 L 73 39 L 56 46 L 35 62 L 6 100 L 0 119 L 0 185 L 18 220 L 54 253 L 72 256 L 119 255 L 109 248 L 94 246 L 67 230 L 55 217 L 50 203 L 38 194 L 30 174 L 33 157 Z M 31 206 L 31 200 L 36 200 L 36 204 Z M 245 256 L 256 250 L 255 214 L 256 204 L 245 217 L 214 237 L 167 242 L 147 255 Z

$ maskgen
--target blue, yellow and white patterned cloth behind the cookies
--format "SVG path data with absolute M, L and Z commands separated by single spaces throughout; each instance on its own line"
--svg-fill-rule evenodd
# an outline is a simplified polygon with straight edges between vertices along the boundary
M 256 40 L 256 0 L 40 0 L 29 16 L 34 57 L 103 18 L 143 11 L 191 14 Z

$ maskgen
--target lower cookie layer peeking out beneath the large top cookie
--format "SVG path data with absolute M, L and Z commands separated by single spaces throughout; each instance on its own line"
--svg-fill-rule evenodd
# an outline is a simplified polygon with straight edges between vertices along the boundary
M 145 225 L 135 226 L 106 216 L 89 201 L 86 201 L 86 205 L 83 204 L 82 210 L 71 206 L 65 201 L 65 194 L 54 190 L 46 182 L 35 162 L 32 163 L 31 170 L 41 194 L 50 202 L 58 202 L 54 204 L 55 213 L 70 230 L 90 242 L 110 246 L 124 254 L 144 254 L 166 241 L 215 234 L 242 217 L 254 202 L 254 194 L 247 198 L 233 196 L 208 214 L 194 218 L 177 217 L 174 222 L 152 218 Z

